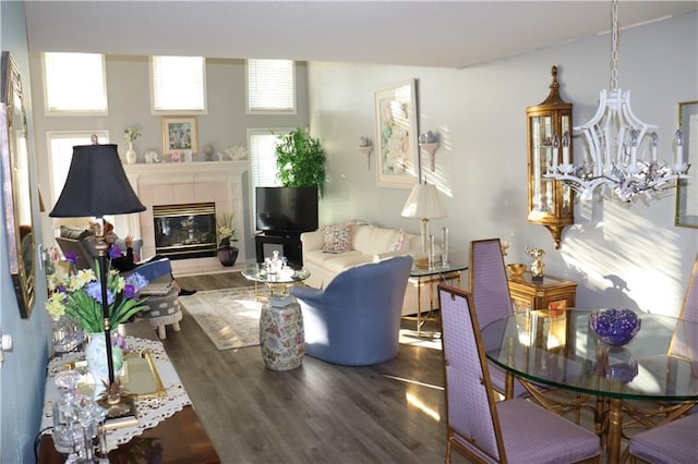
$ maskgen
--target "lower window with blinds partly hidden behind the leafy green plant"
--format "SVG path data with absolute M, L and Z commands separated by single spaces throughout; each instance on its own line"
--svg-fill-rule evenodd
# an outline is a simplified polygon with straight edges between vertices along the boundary
M 250 155 L 250 186 L 252 188 L 252 222 L 256 224 L 256 188 L 255 187 L 277 187 L 280 186 L 276 178 L 276 142 L 277 136 L 286 134 L 290 130 L 251 129 L 248 131 L 248 151 Z

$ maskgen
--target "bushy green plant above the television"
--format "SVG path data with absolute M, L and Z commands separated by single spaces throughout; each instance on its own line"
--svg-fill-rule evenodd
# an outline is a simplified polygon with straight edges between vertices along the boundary
M 277 176 L 285 187 L 317 187 L 325 183 L 325 152 L 317 138 L 298 127 L 278 136 L 276 144 Z

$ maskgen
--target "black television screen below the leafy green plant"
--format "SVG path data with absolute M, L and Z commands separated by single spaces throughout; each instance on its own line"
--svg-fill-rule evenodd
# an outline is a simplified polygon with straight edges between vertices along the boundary
M 256 187 L 256 230 L 268 234 L 317 230 L 317 188 Z

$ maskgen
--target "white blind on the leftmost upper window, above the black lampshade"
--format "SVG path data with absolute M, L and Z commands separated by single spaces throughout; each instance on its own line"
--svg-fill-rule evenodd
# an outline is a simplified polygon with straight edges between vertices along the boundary
M 46 113 L 107 113 L 105 57 L 43 53 Z

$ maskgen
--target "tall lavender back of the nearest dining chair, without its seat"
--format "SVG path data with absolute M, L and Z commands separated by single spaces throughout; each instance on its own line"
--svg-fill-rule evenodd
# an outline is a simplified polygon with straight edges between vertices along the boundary
M 470 293 L 441 284 L 438 300 L 447 440 L 478 461 L 506 462 L 478 315 Z

